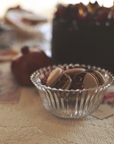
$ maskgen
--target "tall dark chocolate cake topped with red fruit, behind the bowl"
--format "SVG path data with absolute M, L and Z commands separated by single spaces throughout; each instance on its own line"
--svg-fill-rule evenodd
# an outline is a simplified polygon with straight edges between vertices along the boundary
M 114 74 L 114 9 L 97 2 L 58 5 L 52 27 L 53 64 L 80 63 Z

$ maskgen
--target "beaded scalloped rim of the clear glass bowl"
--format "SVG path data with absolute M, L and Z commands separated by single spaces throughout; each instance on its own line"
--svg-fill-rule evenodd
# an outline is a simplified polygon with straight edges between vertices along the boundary
M 94 87 L 94 88 L 89 88 L 89 89 L 82 89 L 82 90 L 80 90 L 80 89 L 76 89 L 76 90 L 73 90 L 73 89 L 71 89 L 71 90 L 56 89 L 56 88 L 51 88 L 49 86 L 43 85 L 43 84 L 41 84 L 41 82 L 37 81 L 36 77 L 38 78 L 38 75 L 40 75 L 39 71 L 41 72 L 43 69 L 48 68 L 48 67 L 55 68 L 55 67 L 64 67 L 66 65 L 67 66 L 69 66 L 69 65 L 72 65 L 72 66 L 74 66 L 74 65 L 80 65 L 83 68 L 84 67 L 90 67 L 89 69 L 95 69 L 95 70 L 107 73 L 107 75 L 109 76 L 109 78 L 108 78 L 107 82 L 105 82 L 103 85 L 100 85 L 100 86 Z M 96 67 L 96 66 L 90 66 L 90 65 L 78 64 L 77 63 L 77 64 L 64 64 L 64 65 L 59 64 L 59 65 L 53 65 L 53 66 L 48 66 L 48 67 L 40 68 L 40 69 L 36 70 L 35 72 L 33 72 L 31 74 L 30 79 L 31 79 L 32 83 L 36 87 L 40 86 L 40 87 L 45 88 L 47 90 L 58 91 L 58 92 L 83 92 L 83 91 L 91 91 L 91 90 L 96 90 L 96 89 L 99 90 L 101 88 L 105 89 L 105 88 L 109 87 L 112 84 L 113 80 L 114 80 L 114 76 L 113 76 L 113 74 L 111 72 L 109 72 L 108 70 L 105 70 L 104 68 L 101 69 L 100 67 Z

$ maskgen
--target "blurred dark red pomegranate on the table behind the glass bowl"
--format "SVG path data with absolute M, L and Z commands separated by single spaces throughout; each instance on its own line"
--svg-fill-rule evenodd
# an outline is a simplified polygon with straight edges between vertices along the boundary
M 11 70 L 19 84 L 31 86 L 30 75 L 39 68 L 51 65 L 51 58 L 38 47 L 28 48 L 25 46 L 21 52 L 12 60 Z

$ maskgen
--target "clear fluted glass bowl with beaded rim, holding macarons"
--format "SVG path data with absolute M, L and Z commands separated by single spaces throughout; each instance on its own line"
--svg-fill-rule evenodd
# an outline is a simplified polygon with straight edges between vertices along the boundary
M 41 84 L 41 79 L 56 67 L 71 69 L 79 64 L 53 65 L 37 70 L 31 75 L 31 81 L 38 89 L 44 107 L 52 114 L 62 118 L 83 118 L 93 113 L 101 104 L 103 97 L 113 81 L 113 75 L 105 69 L 90 65 L 80 65 L 86 69 L 95 69 L 101 72 L 105 83 L 99 87 L 83 90 L 63 90 L 50 88 Z

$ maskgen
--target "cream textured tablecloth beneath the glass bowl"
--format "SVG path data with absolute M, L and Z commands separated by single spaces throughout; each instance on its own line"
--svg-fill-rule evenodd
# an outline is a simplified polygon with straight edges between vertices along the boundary
M 22 87 L 18 103 L 0 104 L 0 144 L 114 144 L 114 116 L 61 119 L 44 108 L 36 88 Z

